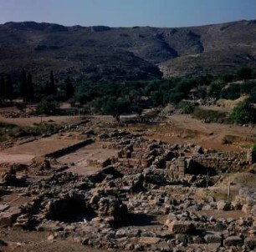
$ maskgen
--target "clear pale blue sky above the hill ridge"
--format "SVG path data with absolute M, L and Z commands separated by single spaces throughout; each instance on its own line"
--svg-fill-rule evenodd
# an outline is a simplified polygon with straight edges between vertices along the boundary
M 182 27 L 256 19 L 256 0 L 0 0 L 0 23 Z

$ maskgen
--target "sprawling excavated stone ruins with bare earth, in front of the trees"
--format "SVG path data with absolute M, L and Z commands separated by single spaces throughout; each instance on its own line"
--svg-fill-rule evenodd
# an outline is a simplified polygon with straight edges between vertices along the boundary
M 256 249 L 255 128 L 121 119 L 1 144 L 0 251 Z

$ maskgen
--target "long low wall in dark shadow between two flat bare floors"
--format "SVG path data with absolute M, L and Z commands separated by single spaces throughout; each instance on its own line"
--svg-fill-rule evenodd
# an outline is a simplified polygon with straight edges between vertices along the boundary
M 45 154 L 44 158 L 58 159 L 59 157 L 62 157 L 66 154 L 70 154 L 70 153 L 76 151 L 77 149 L 83 148 L 84 146 L 92 144 L 94 142 L 95 141 L 93 139 L 86 139 L 86 140 L 81 141 L 77 144 L 72 144 L 72 145 L 69 145 L 69 146 L 64 147 L 62 149 L 55 150 L 54 152 L 51 152 L 49 154 Z

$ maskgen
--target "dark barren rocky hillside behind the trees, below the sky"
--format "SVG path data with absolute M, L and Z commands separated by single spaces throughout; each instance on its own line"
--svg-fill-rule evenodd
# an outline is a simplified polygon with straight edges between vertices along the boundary
M 0 73 L 117 81 L 256 66 L 256 21 L 191 28 L 0 25 Z

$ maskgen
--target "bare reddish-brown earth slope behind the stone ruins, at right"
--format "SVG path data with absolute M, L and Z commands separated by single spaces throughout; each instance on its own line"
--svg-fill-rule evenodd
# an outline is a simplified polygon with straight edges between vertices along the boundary
M 252 144 L 256 138 L 256 128 L 221 123 L 203 123 L 190 115 L 176 114 L 169 118 L 170 123 L 160 125 L 151 135 L 151 139 L 160 139 L 169 143 L 199 144 L 206 149 L 241 151 L 243 144 Z M 239 143 L 222 144 L 227 135 L 237 136 Z

